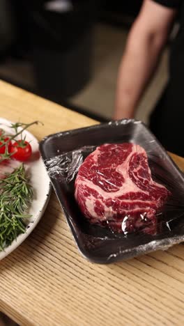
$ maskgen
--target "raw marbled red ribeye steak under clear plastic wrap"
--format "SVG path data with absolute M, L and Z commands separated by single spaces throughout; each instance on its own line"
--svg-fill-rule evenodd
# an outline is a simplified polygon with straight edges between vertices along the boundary
M 146 151 L 132 143 L 106 143 L 79 167 L 75 199 L 92 224 L 113 231 L 156 233 L 156 217 L 169 191 L 151 178 Z

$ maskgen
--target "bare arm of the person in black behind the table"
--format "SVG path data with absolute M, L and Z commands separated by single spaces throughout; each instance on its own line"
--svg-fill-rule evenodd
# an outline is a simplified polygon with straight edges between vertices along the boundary
M 118 72 L 114 119 L 133 118 L 158 63 L 176 10 L 144 0 L 132 26 Z

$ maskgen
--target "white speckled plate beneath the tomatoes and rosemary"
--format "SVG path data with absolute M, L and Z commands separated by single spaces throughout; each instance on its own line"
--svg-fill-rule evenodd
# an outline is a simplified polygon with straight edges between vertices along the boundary
M 0 128 L 6 130 L 9 134 L 12 133 L 12 129 L 8 127 L 11 121 L 6 119 L 0 118 Z M 38 125 L 39 127 L 39 125 Z M 19 129 L 21 130 L 21 128 Z M 33 150 L 33 154 L 31 160 L 26 162 L 25 168 L 28 169 L 29 173 L 31 174 L 30 183 L 33 187 L 33 201 L 31 202 L 31 206 L 29 209 L 28 214 L 32 217 L 29 219 L 26 233 L 21 234 L 17 237 L 17 240 L 14 240 L 9 247 L 0 251 L 0 261 L 4 257 L 6 257 L 10 252 L 15 250 L 26 238 L 27 236 L 33 231 L 33 228 L 36 227 L 40 218 L 42 217 L 43 213 L 45 212 L 45 208 L 47 207 L 47 203 L 49 201 L 49 195 L 51 192 L 51 184 L 49 181 L 49 177 L 47 176 L 47 171 L 41 160 L 40 153 L 39 153 L 39 144 L 38 140 L 33 137 L 33 135 L 24 130 L 23 136 L 26 136 L 26 141 L 31 141 L 31 147 Z M 20 139 L 20 138 L 19 138 Z M 11 160 L 8 164 L 0 164 L 0 176 L 2 176 L 5 172 L 11 172 L 17 166 L 20 165 L 20 162 L 15 160 Z

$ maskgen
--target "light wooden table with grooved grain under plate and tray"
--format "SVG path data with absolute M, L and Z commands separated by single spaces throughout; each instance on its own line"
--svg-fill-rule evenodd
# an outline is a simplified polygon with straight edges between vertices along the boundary
M 0 81 L 0 116 L 43 121 L 38 139 L 95 121 Z M 184 159 L 172 155 L 181 169 Z M 184 247 L 93 265 L 52 193 L 29 238 L 0 263 L 0 309 L 20 325 L 184 325 Z

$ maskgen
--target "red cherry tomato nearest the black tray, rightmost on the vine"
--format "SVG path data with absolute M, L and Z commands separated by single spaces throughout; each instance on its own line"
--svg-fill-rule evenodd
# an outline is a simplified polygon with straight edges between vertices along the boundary
M 31 157 L 32 148 L 30 143 L 20 139 L 10 146 L 9 153 L 13 153 L 11 157 L 15 158 L 15 160 L 25 162 Z

